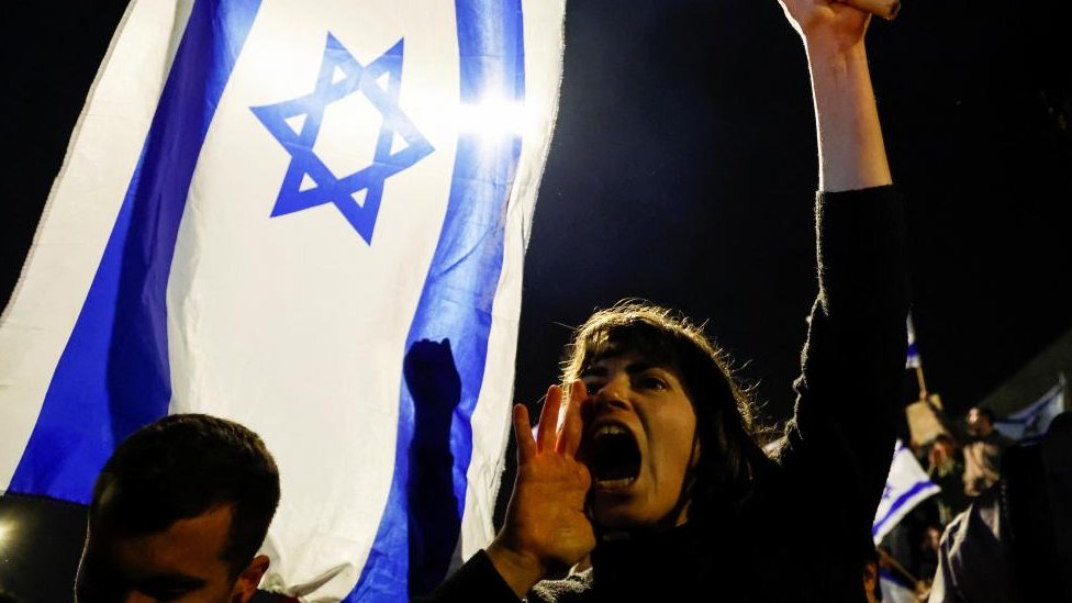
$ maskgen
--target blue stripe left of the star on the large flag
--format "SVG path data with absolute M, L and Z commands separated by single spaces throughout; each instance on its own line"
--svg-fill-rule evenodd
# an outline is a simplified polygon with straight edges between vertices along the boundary
M 167 413 L 166 292 L 187 192 L 260 0 L 198 0 L 10 489 L 89 502 L 114 445 Z

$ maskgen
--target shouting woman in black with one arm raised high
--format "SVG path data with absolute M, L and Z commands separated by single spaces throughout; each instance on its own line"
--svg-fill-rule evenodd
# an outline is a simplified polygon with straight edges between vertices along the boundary
M 864 600 L 861 543 L 902 412 L 901 200 L 868 71 L 869 15 L 826 0 L 782 7 L 812 76 L 819 291 L 778 451 L 757 445 L 747 397 L 688 319 L 630 302 L 598 312 L 535 436 L 514 410 L 502 531 L 433 600 Z

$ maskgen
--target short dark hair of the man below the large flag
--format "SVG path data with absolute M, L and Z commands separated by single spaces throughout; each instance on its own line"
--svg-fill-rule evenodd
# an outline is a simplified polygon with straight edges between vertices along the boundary
M 230 505 L 221 557 L 237 576 L 278 504 L 279 469 L 260 437 L 233 421 L 188 413 L 150 423 L 116 447 L 97 478 L 90 517 L 125 534 L 153 534 Z

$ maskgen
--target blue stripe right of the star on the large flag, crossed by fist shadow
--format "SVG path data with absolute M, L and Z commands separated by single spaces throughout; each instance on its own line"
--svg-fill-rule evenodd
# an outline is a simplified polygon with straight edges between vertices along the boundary
M 507 102 L 524 99 L 521 0 L 456 0 L 455 10 L 461 101 L 479 102 L 485 94 Z M 420 415 L 422 409 L 415 407 L 412 388 L 403 383 L 391 491 L 361 577 L 346 601 L 404 601 L 411 592 L 434 588 L 445 577 L 457 544 L 472 457 L 469 421 L 483 381 L 521 137 L 504 136 L 493 152 L 485 149 L 474 134 L 459 137 L 447 214 L 406 338 L 407 354 L 421 339 L 447 339 L 461 379 L 449 427 L 454 498 L 449 492 L 443 500 L 416 498 L 410 491 L 409 456 L 411 446 L 420 444 L 414 442 L 415 429 L 424 426 L 414 421 L 415 410 Z M 415 545 L 421 554 L 413 560 L 420 567 L 410 563 L 409 551 Z

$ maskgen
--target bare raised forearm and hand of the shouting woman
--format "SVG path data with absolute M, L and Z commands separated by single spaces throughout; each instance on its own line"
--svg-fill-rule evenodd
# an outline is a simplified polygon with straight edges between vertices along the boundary
M 819 190 L 891 183 L 863 44 L 870 15 L 828 0 L 780 0 L 807 51 Z

